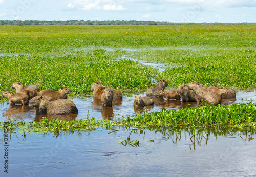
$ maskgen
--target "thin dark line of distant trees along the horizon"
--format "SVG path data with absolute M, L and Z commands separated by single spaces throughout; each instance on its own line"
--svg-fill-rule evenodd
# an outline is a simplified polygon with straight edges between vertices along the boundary
M 0 25 L 231 25 L 231 24 L 256 24 L 256 23 L 172 23 L 167 21 L 84 21 L 84 20 L 68 20 L 68 21 L 38 21 L 38 20 L 0 20 Z

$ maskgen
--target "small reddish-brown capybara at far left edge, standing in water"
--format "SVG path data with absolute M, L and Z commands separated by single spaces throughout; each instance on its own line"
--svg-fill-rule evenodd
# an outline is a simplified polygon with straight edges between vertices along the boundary
M 11 91 L 6 91 L 2 94 L 2 97 L 7 97 L 9 103 L 26 105 L 29 102 L 29 97 L 25 93 L 12 94 Z

